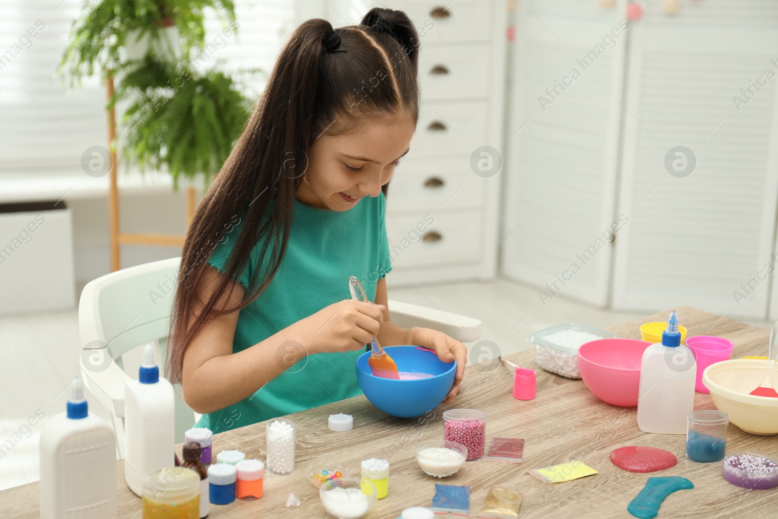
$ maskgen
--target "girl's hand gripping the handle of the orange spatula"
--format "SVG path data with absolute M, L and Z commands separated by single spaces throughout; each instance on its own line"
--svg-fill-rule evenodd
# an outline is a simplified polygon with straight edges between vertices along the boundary
M 342 300 L 324 307 L 298 324 L 308 353 L 348 352 L 364 348 L 378 335 L 386 307 Z

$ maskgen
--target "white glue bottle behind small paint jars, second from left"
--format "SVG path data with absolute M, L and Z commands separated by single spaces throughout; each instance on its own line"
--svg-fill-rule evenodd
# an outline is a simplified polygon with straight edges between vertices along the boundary
M 173 385 L 159 377 L 147 344 L 138 380 L 124 385 L 124 481 L 137 496 L 143 495 L 144 475 L 175 464 L 174 430 Z

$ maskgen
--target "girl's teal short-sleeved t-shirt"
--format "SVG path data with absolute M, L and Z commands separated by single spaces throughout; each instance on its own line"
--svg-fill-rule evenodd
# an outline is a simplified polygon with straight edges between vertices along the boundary
M 294 202 L 289 244 L 282 264 L 257 300 L 240 310 L 233 353 L 340 300 L 349 299 L 349 276 L 356 275 L 373 301 L 379 279 L 391 270 L 384 223 L 384 195 L 365 197 L 345 212 L 316 209 Z M 240 224 L 219 244 L 209 265 L 225 272 Z M 237 276 L 248 288 L 260 244 Z M 203 415 L 197 427 L 221 433 L 362 394 L 356 359 L 365 349 L 308 355 L 265 386 L 225 409 Z M 279 356 L 282 359 L 282 354 Z M 229 377 L 230 373 L 223 373 Z

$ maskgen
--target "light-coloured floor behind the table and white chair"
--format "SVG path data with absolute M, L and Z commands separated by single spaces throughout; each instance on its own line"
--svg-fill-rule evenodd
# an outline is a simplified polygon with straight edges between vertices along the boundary
M 505 279 L 390 289 L 393 300 L 438 307 L 483 321 L 489 351 L 527 349 L 527 336 L 555 324 L 579 322 L 605 328 L 638 317 L 598 310 L 557 297 L 543 307 L 537 290 Z M 754 322 L 770 328 L 771 323 Z M 79 373 L 78 314 L 75 309 L 0 317 L 0 489 L 33 482 L 38 475 L 38 440 L 48 418 L 65 410 L 65 388 Z M 478 349 L 480 353 L 482 350 Z M 128 364 L 125 364 L 128 365 Z M 106 409 L 86 395 L 89 410 L 108 419 Z M 35 426 L 35 413 L 45 413 Z

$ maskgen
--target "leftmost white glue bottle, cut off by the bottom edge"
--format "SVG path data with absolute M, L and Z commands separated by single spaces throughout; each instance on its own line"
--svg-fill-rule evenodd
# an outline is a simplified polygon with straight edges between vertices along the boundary
M 116 517 L 116 435 L 90 415 L 75 377 L 67 412 L 40 433 L 40 519 Z

